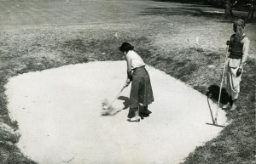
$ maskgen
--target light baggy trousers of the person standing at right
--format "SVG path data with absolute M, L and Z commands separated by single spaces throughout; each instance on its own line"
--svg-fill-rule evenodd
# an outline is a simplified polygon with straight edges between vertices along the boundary
M 237 99 L 238 94 L 240 93 L 240 82 L 241 82 L 241 75 L 236 76 L 236 71 L 239 67 L 233 68 L 228 66 L 227 71 L 227 80 L 226 80 L 226 88 L 227 92 L 230 93 L 232 99 Z

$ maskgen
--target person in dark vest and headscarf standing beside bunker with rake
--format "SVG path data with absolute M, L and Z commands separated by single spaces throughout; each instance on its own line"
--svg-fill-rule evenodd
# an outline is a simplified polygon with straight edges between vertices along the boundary
M 230 94 L 230 98 L 228 104 L 223 106 L 223 109 L 227 109 L 230 105 L 230 110 L 236 110 L 237 107 L 236 100 L 240 93 L 241 74 L 244 65 L 246 65 L 250 43 L 250 40 L 244 34 L 245 25 L 244 20 L 235 20 L 233 23 L 235 34 L 233 34 L 230 37 L 230 41 L 227 42 L 227 44 L 230 45 L 230 55 L 227 60 L 228 71 L 226 88 Z

